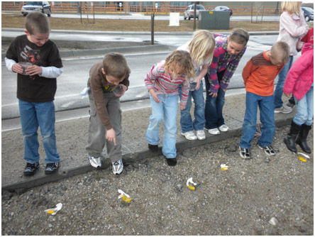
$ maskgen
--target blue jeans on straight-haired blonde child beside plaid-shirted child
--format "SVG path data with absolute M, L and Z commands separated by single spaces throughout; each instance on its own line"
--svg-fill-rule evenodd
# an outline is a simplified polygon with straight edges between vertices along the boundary
M 182 99 L 182 86 L 179 86 L 179 98 Z M 190 109 L 192 108 L 192 98 L 194 99 L 194 121 L 190 115 Z M 193 130 L 204 130 L 204 87 L 202 81 L 200 87 L 196 91 L 189 92 L 186 109 L 180 111 L 180 126 L 182 132 L 190 132 Z

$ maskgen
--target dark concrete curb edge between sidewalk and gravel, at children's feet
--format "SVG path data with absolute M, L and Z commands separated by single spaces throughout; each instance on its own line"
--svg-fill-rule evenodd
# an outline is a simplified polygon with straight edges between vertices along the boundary
M 277 127 L 281 126 L 287 126 L 291 124 L 292 118 L 278 118 L 275 121 L 275 125 Z M 226 133 L 221 133 L 219 136 L 208 136 L 206 137 L 205 140 L 184 140 L 182 142 L 176 143 L 177 147 L 177 153 L 187 149 L 187 148 L 194 148 L 199 145 L 204 145 L 207 143 L 215 143 L 221 140 L 225 140 L 227 138 L 231 138 L 234 136 L 241 136 L 242 133 L 242 128 L 237 128 L 230 130 Z M 162 155 L 161 148 L 159 149 L 158 153 L 154 153 L 154 156 L 156 155 Z M 138 150 L 134 153 L 126 153 L 123 155 L 123 163 L 125 166 L 131 165 L 135 162 L 141 162 L 141 160 L 144 160 L 146 158 L 152 158 L 153 153 L 146 149 L 146 150 Z M 103 160 L 103 169 L 109 168 L 111 165 L 111 162 L 109 159 Z M 68 177 L 72 177 L 74 175 L 82 175 L 87 172 L 91 172 L 95 170 L 91 165 L 82 165 L 79 167 L 74 167 L 69 170 L 59 170 L 57 174 L 54 175 L 44 175 L 43 177 L 37 177 L 35 179 L 30 178 L 30 180 L 24 180 L 21 182 L 16 182 L 16 183 L 11 183 L 11 184 L 6 184 L 1 187 L 2 190 L 6 190 L 9 192 L 24 192 L 27 189 L 30 189 L 32 187 L 37 187 L 43 184 L 46 184 L 48 182 L 56 182 L 58 180 L 63 180 Z

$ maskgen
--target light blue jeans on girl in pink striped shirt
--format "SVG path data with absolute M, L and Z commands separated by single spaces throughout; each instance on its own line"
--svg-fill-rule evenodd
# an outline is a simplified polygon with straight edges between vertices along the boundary
M 159 128 L 164 119 L 164 138 L 162 153 L 166 158 L 176 158 L 176 118 L 178 107 L 178 94 L 159 94 L 160 103 L 156 103 L 152 97 L 152 115 L 147 130 L 146 138 L 151 145 L 157 145 L 160 141 Z

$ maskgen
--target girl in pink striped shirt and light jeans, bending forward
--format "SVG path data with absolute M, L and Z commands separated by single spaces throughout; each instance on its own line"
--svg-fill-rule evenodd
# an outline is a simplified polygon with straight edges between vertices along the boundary
M 145 85 L 150 92 L 152 115 L 146 133 L 148 147 L 156 152 L 160 141 L 160 123 L 164 120 L 164 138 L 162 154 L 167 165 L 174 166 L 176 160 L 176 121 L 178 106 L 178 89 L 182 85 L 180 109 L 186 108 L 189 93 L 188 78 L 194 77 L 194 66 L 189 53 L 176 50 L 166 60 L 157 62 L 145 77 Z

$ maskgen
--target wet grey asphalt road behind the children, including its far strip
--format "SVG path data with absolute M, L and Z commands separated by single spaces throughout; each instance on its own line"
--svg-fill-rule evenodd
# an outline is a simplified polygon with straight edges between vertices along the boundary
M 16 37 L 20 35 L 21 30 L 6 31 L 2 30 L 2 36 Z M 52 40 L 72 40 L 71 33 L 52 31 L 50 38 Z M 191 33 L 187 34 L 157 34 L 155 41 L 162 45 L 169 45 L 172 48 L 177 48 L 179 45 L 186 43 L 192 37 Z M 102 40 L 116 42 L 141 42 L 148 38 L 147 33 L 91 33 L 77 32 L 76 40 Z M 270 48 L 273 42 L 277 40 L 277 35 L 252 35 L 238 68 L 231 79 L 228 89 L 243 88 L 243 79 L 241 72 L 246 62 L 263 50 Z M 130 89 L 122 97 L 122 101 L 130 101 L 133 99 L 148 98 L 148 92 L 145 89 L 143 79 L 145 74 L 150 70 L 150 67 L 156 62 L 165 59 L 169 52 L 157 53 L 131 53 L 125 54 L 129 67 L 131 68 Z M 77 57 L 63 58 L 64 72 L 57 79 L 57 93 L 55 95 L 56 111 L 68 109 L 77 109 L 89 105 L 87 97 L 82 98 L 79 92 L 87 85 L 89 69 L 95 62 L 101 60 L 102 56 L 98 57 Z M 16 99 L 16 75 L 6 70 L 4 62 L 1 65 L 1 116 L 2 119 L 18 117 L 18 99 Z

